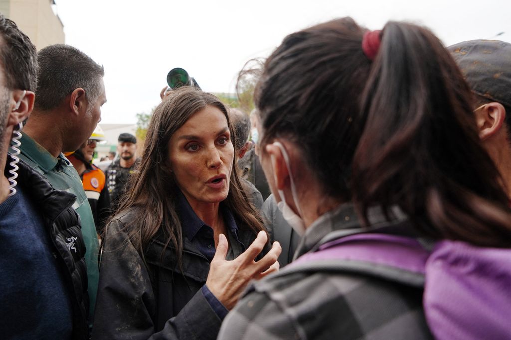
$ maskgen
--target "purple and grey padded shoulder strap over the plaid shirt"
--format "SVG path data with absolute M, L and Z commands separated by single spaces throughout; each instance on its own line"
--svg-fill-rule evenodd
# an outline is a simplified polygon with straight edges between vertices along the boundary
M 364 233 L 327 242 L 300 256 L 286 271 L 349 271 L 423 286 L 428 256 L 413 238 Z

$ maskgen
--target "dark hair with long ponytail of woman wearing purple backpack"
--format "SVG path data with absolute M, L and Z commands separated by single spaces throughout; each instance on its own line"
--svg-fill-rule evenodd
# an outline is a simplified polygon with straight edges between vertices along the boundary
M 364 32 L 343 18 L 285 38 L 255 91 L 262 144 L 295 141 L 326 195 L 353 199 L 366 223 L 369 207 L 399 206 L 425 235 L 509 246 L 508 201 L 449 53 L 388 22 L 371 62 Z

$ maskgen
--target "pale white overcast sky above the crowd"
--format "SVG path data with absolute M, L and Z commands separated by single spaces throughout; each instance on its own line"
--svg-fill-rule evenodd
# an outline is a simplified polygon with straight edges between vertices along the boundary
M 388 20 L 429 27 L 446 45 L 511 42 L 507 0 L 56 0 L 66 43 L 105 67 L 102 123 L 135 123 L 159 103 L 170 69 L 182 67 L 208 92 L 234 92 L 243 64 L 267 57 L 295 31 L 351 16 L 369 29 Z

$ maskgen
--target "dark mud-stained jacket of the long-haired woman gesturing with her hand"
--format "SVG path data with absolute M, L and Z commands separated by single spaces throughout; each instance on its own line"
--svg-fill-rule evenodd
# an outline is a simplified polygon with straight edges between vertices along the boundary
M 129 212 L 106 227 L 92 339 L 216 339 L 222 320 L 201 292 L 210 262 L 183 237 L 181 273 L 175 249 L 157 234 L 144 263 L 126 233 L 136 218 Z M 256 236 L 238 230 L 245 248 Z M 227 259 L 236 256 L 229 249 Z

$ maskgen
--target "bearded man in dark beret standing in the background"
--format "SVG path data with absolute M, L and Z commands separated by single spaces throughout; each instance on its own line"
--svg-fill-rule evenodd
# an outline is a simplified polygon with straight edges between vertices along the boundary
M 106 169 L 112 212 L 117 210 L 119 202 L 126 192 L 129 176 L 139 162 L 139 159 L 135 157 L 136 137 L 131 133 L 123 132 L 119 135 L 118 141 L 117 152 L 119 158 L 114 160 Z

